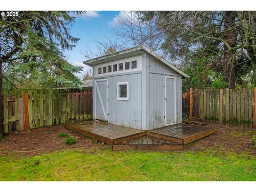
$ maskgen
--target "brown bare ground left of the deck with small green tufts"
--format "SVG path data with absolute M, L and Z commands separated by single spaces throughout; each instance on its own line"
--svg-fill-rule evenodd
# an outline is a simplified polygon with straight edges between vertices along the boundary
M 68 137 L 60 138 L 58 137 L 60 133 L 68 133 Z M 66 145 L 65 139 L 70 137 L 76 138 L 77 142 L 73 145 Z M 95 144 L 90 138 L 83 139 L 69 132 L 63 125 L 58 125 L 5 135 L 4 139 L 0 141 L 0 156 L 10 153 L 34 156 L 64 149 L 86 149 L 94 146 Z

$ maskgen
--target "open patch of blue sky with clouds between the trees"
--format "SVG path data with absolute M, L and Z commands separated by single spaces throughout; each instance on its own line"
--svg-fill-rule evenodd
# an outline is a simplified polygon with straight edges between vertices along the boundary
M 104 35 L 111 38 L 111 25 L 116 25 L 119 11 L 87 11 L 83 15 L 79 15 L 74 25 L 70 28 L 71 35 L 80 38 L 77 46 L 72 51 L 66 51 L 65 55 L 68 61 L 73 65 L 84 66 L 84 71 L 87 66 L 83 65 L 86 60 L 81 51 L 86 49 L 86 46 L 93 52 L 97 51 L 93 39 L 102 39 Z M 79 76 L 79 75 L 78 75 Z

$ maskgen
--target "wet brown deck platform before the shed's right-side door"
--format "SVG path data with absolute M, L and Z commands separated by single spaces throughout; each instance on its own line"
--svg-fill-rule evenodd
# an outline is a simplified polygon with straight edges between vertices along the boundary
M 173 141 L 182 145 L 186 145 L 215 132 L 216 131 L 214 128 L 208 126 L 179 124 L 147 131 L 147 135 L 158 139 Z

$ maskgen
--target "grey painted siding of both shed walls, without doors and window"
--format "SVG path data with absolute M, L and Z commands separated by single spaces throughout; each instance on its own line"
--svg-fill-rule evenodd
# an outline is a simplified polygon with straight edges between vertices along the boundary
M 165 126 L 165 76 L 176 78 L 177 123 L 181 123 L 181 75 L 149 53 L 142 54 L 141 71 L 104 76 L 108 78 L 109 85 L 108 122 L 142 130 Z M 126 81 L 129 82 L 129 101 L 117 100 L 116 84 Z

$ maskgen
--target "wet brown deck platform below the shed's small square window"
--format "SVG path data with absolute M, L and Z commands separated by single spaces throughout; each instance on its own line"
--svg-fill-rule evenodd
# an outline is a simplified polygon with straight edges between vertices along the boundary
M 65 124 L 65 128 L 103 141 L 109 145 L 117 145 L 123 141 L 146 135 L 145 131 L 94 121 L 67 123 Z

